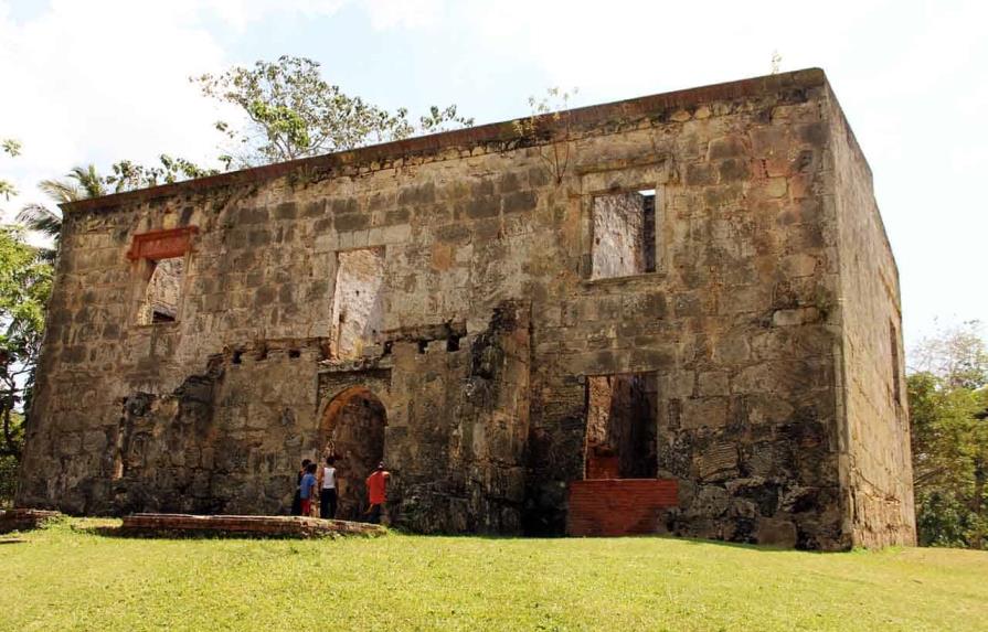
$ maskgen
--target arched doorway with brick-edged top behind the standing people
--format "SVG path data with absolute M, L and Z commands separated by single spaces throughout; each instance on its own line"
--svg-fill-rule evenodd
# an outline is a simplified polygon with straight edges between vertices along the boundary
M 364 481 L 384 459 L 384 404 L 363 386 L 339 393 L 326 406 L 319 426 L 319 454 L 336 459 L 337 518 L 361 519 L 366 508 Z

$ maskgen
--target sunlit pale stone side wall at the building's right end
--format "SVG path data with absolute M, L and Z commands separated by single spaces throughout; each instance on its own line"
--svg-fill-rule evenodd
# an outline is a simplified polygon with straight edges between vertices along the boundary
M 915 545 L 899 270 L 871 170 L 829 95 L 840 257 L 841 474 L 844 529 L 856 546 Z

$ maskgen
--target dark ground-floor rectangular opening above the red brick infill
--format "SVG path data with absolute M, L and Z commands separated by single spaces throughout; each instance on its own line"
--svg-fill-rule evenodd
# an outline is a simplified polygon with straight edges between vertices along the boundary
M 658 470 L 658 375 L 586 378 L 586 479 L 654 479 Z

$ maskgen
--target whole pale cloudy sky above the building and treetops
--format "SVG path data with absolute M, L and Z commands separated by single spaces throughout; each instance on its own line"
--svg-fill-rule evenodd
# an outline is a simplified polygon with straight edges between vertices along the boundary
M 74 164 L 208 160 L 230 115 L 187 78 L 304 55 L 347 93 L 477 122 L 550 86 L 577 105 L 822 67 L 875 176 L 907 343 L 988 321 L 988 10 L 974 1 L 0 0 L 0 172 L 21 195 Z

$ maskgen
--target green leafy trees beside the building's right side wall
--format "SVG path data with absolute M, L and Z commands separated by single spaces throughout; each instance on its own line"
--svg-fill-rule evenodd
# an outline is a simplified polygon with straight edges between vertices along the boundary
M 988 537 L 988 353 L 977 322 L 924 340 L 907 378 L 920 543 Z

